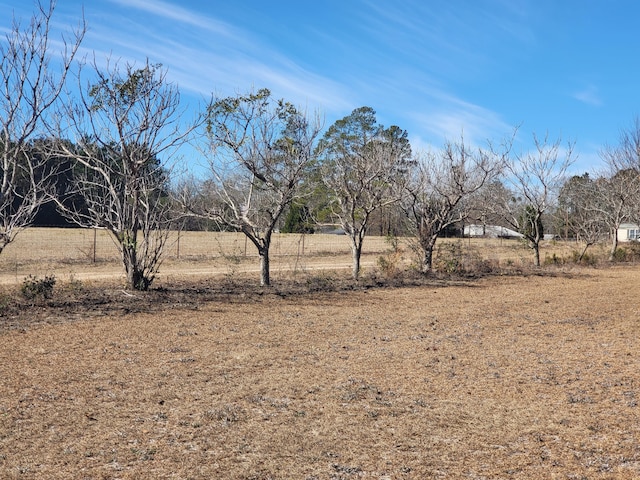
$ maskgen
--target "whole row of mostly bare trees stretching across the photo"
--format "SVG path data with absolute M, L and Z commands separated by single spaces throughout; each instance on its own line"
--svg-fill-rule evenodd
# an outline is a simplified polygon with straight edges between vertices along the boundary
M 618 227 L 640 221 L 639 121 L 603 148 L 605 168 L 592 178 L 568 176 L 574 145 L 560 139 L 534 135 L 534 148 L 518 153 L 514 129 L 498 143 L 472 146 L 461 135 L 416 152 L 408 133 L 381 125 L 371 107 L 325 129 L 319 114 L 268 89 L 214 96 L 189 119 L 161 65 L 77 58 L 84 21 L 56 52 L 54 4 L 37 6 L 28 24 L 13 21 L 0 46 L 0 253 L 55 208 L 69 224 L 107 230 L 128 286 L 146 290 L 169 232 L 205 222 L 243 232 L 269 285 L 276 231 L 339 225 L 357 280 L 372 228 L 414 237 L 428 273 L 437 240 L 464 224 L 516 230 L 539 266 L 545 230 L 583 242 L 584 251 L 612 238 L 613 256 Z M 178 169 L 186 144 L 206 173 Z

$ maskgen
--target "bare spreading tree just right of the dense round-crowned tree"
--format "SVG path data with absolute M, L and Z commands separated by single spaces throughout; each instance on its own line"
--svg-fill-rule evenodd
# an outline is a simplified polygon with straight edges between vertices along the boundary
M 418 159 L 403 208 L 417 240 L 423 273 L 431 271 L 438 238 L 469 217 L 471 197 L 500 173 L 509 150 L 505 147 L 502 154 L 492 148 L 474 150 L 461 138 Z

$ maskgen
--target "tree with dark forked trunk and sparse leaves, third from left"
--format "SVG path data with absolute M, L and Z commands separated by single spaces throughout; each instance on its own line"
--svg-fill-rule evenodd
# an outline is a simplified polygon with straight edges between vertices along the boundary
M 260 284 L 269 285 L 269 248 L 282 213 L 303 196 L 322 122 L 267 89 L 215 99 L 205 139 L 210 177 L 183 195 L 195 215 L 241 231 L 260 257 Z

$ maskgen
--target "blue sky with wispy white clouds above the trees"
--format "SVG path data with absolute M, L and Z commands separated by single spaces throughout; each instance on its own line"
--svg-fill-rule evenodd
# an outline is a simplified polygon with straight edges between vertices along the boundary
M 0 0 L 0 27 L 32 5 Z M 560 136 L 585 171 L 640 114 L 634 0 L 58 0 L 55 21 L 83 8 L 85 53 L 162 63 L 194 106 L 266 87 L 328 127 L 367 105 L 414 149 L 520 125 L 517 149 Z

